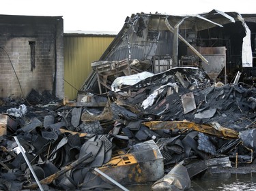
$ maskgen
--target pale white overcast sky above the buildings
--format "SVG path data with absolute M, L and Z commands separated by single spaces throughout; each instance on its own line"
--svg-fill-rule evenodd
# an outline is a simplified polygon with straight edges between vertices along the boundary
M 65 31 L 119 32 L 131 14 L 201 14 L 211 10 L 256 14 L 256 0 L 5 0 L 0 14 L 63 16 Z

